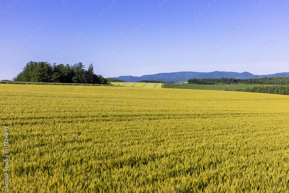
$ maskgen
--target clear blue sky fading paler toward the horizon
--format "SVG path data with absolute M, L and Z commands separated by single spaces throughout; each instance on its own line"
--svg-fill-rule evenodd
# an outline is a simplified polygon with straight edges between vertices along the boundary
M 29 61 L 104 77 L 288 72 L 288 0 L 2 0 L 0 79 Z M 249 63 L 249 61 L 251 63 Z

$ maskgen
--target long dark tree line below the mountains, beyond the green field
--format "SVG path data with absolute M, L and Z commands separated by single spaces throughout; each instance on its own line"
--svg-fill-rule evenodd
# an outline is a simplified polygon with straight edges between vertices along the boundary
M 264 77 L 264 78 L 193 78 L 188 80 L 189 84 L 274 84 L 289 85 L 289 77 Z

